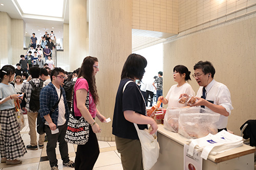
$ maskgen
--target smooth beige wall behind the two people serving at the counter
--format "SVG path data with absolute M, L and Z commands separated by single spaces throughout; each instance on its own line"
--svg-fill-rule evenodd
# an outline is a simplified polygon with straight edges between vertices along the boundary
M 175 84 L 173 67 L 183 64 L 193 73 L 193 66 L 208 60 L 216 69 L 215 80 L 225 84 L 231 93 L 233 110 L 227 128 L 240 134 L 247 119 L 256 119 L 256 14 L 240 20 L 164 43 L 163 93 Z M 191 78 L 193 79 L 193 78 Z M 195 79 L 189 82 L 195 92 Z

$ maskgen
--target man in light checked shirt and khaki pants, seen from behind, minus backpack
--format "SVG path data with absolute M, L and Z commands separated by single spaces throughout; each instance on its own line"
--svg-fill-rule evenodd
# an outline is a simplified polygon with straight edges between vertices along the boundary
M 39 67 L 31 67 L 29 69 L 29 73 L 32 77 L 32 81 L 35 84 L 35 86 L 38 86 L 40 83 L 40 80 L 39 80 L 40 68 Z M 45 86 L 46 86 L 46 84 L 44 83 L 42 85 L 42 87 L 45 87 Z M 21 89 L 23 94 L 26 93 L 27 99 L 28 99 L 27 104 L 26 104 L 26 109 L 28 111 L 27 114 L 28 114 L 28 121 L 29 121 L 30 144 L 27 145 L 26 148 L 28 150 L 38 150 L 37 142 L 36 142 L 36 129 L 35 129 L 36 128 L 36 118 L 37 118 L 38 113 L 29 109 L 31 89 L 32 89 L 32 85 L 29 82 L 25 82 Z M 23 98 L 23 96 L 22 96 L 22 98 Z M 44 148 L 44 141 L 45 141 L 45 134 L 39 135 L 39 140 L 38 140 L 39 148 Z

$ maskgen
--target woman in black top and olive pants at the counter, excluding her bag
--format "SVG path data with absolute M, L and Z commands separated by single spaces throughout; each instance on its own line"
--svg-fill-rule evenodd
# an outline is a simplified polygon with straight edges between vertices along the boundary
M 151 134 L 158 128 L 155 120 L 146 116 L 145 101 L 135 83 L 137 79 L 141 81 L 146 65 L 144 57 L 131 54 L 123 65 L 116 95 L 112 133 L 115 135 L 117 151 L 121 154 L 123 169 L 143 169 L 141 144 L 133 123 L 138 124 L 141 130 L 150 124 L 153 128 Z

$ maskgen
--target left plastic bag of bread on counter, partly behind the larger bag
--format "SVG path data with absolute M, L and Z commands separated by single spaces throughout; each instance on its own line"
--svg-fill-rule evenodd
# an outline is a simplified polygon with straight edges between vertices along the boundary
M 169 131 L 178 133 L 180 108 L 167 108 L 164 115 L 163 126 Z

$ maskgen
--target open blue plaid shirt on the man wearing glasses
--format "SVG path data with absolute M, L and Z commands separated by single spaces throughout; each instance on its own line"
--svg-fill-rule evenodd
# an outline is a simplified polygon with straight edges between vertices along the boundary
M 65 90 L 60 87 L 62 90 L 62 96 L 63 96 L 63 101 L 65 104 L 65 118 L 68 121 L 69 120 L 69 107 L 68 107 L 68 103 L 66 100 L 66 93 Z M 44 87 L 41 91 L 40 91 L 40 109 L 39 109 L 39 113 L 42 117 L 42 120 L 45 122 L 45 118 L 43 116 L 50 114 L 50 110 L 51 108 L 53 108 L 53 106 L 58 102 L 59 100 L 59 96 L 58 93 L 54 87 L 54 85 L 52 84 L 52 82 L 50 82 L 46 87 Z M 50 115 L 52 118 L 52 122 L 58 127 L 58 106 L 56 107 L 55 111 Z

